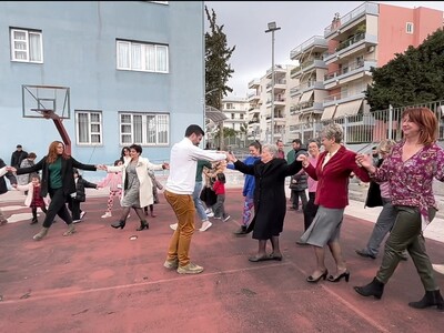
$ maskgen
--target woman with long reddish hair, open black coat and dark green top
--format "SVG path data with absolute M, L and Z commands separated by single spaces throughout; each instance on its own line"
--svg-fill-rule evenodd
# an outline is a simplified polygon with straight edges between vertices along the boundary
M 75 193 L 74 175 L 72 172 L 74 168 L 95 171 L 97 169 L 103 170 L 104 167 L 82 164 L 64 152 L 63 142 L 53 141 L 49 145 L 48 154 L 40 162 L 29 168 L 16 170 L 17 174 L 42 170 L 40 193 L 43 198 L 49 193 L 51 198 L 43 226 L 33 236 L 36 241 L 40 241 L 47 235 L 56 215 L 59 215 L 68 224 L 68 231 L 63 235 L 71 235 L 75 232 L 72 218 L 65 205 L 68 198 L 72 193 Z

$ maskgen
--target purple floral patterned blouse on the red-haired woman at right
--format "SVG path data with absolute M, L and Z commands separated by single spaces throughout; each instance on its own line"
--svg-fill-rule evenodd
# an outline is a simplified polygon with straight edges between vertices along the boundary
M 371 178 L 379 182 L 389 181 L 393 205 L 420 208 L 424 230 L 430 223 L 428 208 L 437 210 L 432 184 L 434 178 L 444 181 L 444 150 L 432 143 L 403 162 L 404 142 L 393 148 L 390 157 Z

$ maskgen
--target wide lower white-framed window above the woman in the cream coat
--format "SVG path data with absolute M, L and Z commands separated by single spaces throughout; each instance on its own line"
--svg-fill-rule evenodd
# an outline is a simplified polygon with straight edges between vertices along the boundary
M 121 112 L 120 143 L 170 144 L 170 114 Z

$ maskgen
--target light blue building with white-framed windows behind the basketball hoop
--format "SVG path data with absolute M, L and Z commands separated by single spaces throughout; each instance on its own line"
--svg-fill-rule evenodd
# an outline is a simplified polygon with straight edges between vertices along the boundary
M 168 160 L 204 127 L 203 14 L 203 1 L 1 2 L 0 157 L 20 143 L 42 158 L 61 139 L 53 110 L 79 161 L 132 143 Z

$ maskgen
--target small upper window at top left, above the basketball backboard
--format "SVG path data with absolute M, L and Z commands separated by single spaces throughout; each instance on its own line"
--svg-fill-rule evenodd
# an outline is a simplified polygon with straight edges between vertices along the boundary
M 41 31 L 10 29 L 11 60 L 43 63 L 43 43 Z

